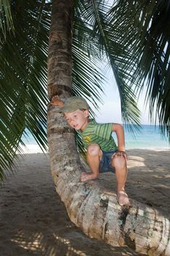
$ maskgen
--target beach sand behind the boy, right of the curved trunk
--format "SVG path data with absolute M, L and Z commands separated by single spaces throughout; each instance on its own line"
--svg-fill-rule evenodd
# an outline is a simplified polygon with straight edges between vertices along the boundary
M 134 149 L 128 150 L 128 178 L 126 192 L 131 199 L 158 209 L 163 215 L 170 212 L 170 152 Z M 116 191 L 116 178 L 102 173 L 102 187 Z

